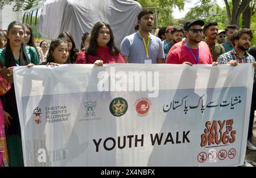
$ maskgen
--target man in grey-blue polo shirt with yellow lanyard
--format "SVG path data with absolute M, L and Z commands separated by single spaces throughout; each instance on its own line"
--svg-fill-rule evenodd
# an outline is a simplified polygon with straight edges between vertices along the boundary
M 150 32 L 154 26 L 153 12 L 143 10 L 138 15 L 139 31 L 126 36 L 121 43 L 125 62 L 164 63 L 162 41 Z

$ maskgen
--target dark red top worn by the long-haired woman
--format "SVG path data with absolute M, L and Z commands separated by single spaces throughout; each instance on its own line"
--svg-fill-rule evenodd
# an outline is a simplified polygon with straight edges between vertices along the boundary
M 118 55 L 112 56 L 108 46 L 98 46 L 96 56 L 86 55 L 85 51 L 81 50 L 76 57 L 76 63 L 94 63 L 96 60 L 102 60 L 103 63 L 125 63 L 123 54 L 120 52 Z

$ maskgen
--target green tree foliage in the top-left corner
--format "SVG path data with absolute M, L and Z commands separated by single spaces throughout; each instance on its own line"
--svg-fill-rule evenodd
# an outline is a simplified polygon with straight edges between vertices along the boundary
M 14 3 L 13 10 L 14 11 L 23 11 L 30 9 L 32 7 L 32 4 L 38 0 L 2 0 L 0 1 L 0 9 L 2 9 L 6 5 L 10 5 L 11 3 Z

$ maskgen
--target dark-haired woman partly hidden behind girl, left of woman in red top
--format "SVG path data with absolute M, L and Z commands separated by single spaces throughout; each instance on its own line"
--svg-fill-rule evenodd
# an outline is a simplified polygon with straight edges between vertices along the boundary
M 79 50 L 76 49 L 76 44 L 73 39 L 73 36 L 69 32 L 63 32 L 63 33 L 60 33 L 60 35 L 57 38 L 63 39 L 68 43 L 69 56 L 68 56 L 67 63 L 75 63 Z

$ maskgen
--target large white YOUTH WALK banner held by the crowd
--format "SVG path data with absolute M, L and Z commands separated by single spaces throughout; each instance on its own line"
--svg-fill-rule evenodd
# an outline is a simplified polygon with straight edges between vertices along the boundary
M 240 166 L 251 64 L 15 67 L 25 166 Z

